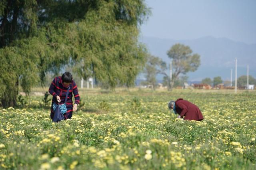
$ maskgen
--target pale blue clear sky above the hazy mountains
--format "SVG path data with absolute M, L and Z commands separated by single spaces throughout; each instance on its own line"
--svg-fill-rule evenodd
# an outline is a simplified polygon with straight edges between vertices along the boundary
M 146 0 L 141 36 L 189 40 L 213 36 L 256 43 L 256 0 Z

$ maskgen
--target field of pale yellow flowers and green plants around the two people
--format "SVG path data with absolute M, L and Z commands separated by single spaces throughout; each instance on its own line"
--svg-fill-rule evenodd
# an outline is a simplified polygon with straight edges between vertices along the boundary
M 42 97 L 0 109 L 0 169 L 256 169 L 256 92 L 80 91 L 71 120 L 52 123 Z M 170 100 L 202 122 L 176 119 Z M 50 105 L 50 102 L 49 102 Z

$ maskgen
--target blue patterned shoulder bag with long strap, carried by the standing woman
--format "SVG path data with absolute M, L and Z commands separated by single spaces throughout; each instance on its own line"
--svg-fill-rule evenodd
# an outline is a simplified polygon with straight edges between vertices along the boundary
M 59 122 L 64 120 L 64 114 L 67 112 L 67 105 L 66 102 L 68 100 L 68 93 L 69 93 L 70 86 L 68 87 L 67 93 L 66 93 L 66 98 L 64 104 L 58 105 L 56 103 L 53 103 L 53 111 L 54 111 L 54 117 L 52 119 L 53 122 Z

